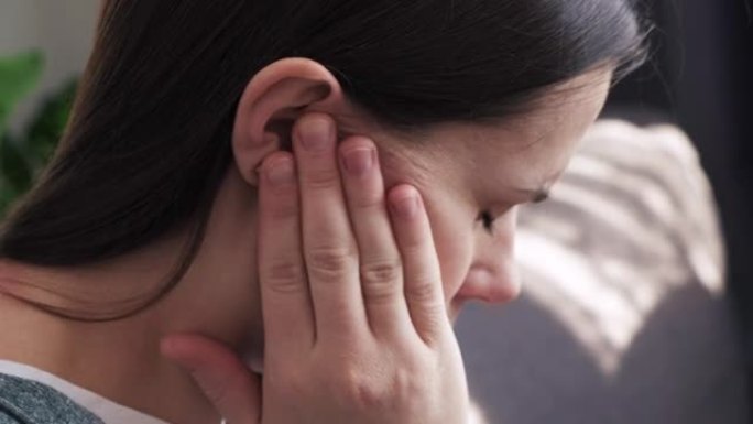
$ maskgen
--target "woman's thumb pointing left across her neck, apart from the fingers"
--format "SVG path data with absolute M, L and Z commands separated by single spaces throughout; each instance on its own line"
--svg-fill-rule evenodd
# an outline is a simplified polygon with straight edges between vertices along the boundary
M 192 374 L 227 423 L 261 422 L 261 378 L 227 346 L 196 335 L 171 335 L 160 350 Z

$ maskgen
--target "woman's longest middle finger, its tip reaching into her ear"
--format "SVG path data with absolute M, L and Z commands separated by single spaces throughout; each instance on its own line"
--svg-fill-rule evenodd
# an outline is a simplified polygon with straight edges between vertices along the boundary
M 302 118 L 293 131 L 299 168 L 304 258 L 317 339 L 368 330 L 358 275 L 358 251 L 337 164 L 335 122 Z

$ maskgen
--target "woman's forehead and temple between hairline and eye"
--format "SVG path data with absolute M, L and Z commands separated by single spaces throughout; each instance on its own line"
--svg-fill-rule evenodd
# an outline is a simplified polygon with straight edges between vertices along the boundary
M 592 73 L 553 89 L 528 112 L 495 124 L 446 123 L 408 153 L 416 172 L 446 184 L 505 192 L 548 187 L 603 107 L 611 74 Z M 439 174 L 439 175 L 437 175 Z M 523 200 L 523 199 L 522 199 Z

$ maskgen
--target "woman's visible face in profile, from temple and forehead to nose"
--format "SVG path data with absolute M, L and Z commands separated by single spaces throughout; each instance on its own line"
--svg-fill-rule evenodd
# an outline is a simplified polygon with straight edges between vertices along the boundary
M 520 292 L 517 206 L 546 198 L 603 107 L 610 79 L 608 70 L 583 75 L 504 123 L 448 123 L 410 140 L 369 134 L 386 185 L 413 184 L 424 197 L 452 319 L 467 301 L 505 303 Z

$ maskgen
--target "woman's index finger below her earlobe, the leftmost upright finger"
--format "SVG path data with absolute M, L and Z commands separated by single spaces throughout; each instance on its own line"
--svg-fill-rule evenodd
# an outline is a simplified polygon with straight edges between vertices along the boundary
M 301 208 L 295 162 L 275 153 L 262 167 L 259 185 L 259 276 L 268 351 L 307 351 L 316 323 L 301 241 Z

